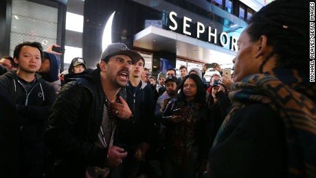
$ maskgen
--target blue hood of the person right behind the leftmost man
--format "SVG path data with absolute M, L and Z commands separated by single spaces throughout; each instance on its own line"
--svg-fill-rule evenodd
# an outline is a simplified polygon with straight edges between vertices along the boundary
M 47 56 L 49 56 L 50 69 L 48 74 L 43 74 L 43 79 L 46 82 L 55 82 L 59 80 L 59 69 L 60 69 L 60 59 L 55 54 L 44 52 Z

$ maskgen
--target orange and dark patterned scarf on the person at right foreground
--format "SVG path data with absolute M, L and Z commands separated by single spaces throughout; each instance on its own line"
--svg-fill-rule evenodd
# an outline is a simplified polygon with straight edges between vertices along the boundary
M 251 103 L 267 104 L 284 123 L 287 177 L 316 177 L 316 86 L 291 69 L 274 69 L 235 82 L 229 93 L 233 109 L 216 135 L 214 146 L 234 113 Z

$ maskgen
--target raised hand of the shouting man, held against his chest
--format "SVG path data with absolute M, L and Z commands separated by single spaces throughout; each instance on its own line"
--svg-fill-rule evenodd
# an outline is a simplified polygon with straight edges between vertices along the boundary
M 111 103 L 111 113 L 121 120 L 128 120 L 132 115 L 132 111 L 129 109 L 127 102 L 122 96 L 120 96 L 119 100 L 121 103 Z

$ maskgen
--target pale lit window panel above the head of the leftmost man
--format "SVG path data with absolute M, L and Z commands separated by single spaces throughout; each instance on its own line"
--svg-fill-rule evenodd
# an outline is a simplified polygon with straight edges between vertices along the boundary
M 12 0 L 10 55 L 24 41 L 37 41 L 46 49 L 57 41 L 58 9 L 39 3 Z

